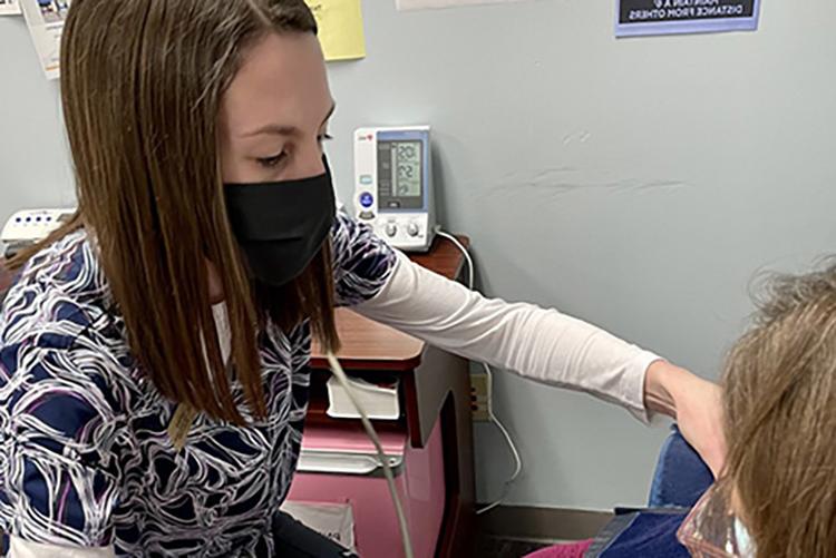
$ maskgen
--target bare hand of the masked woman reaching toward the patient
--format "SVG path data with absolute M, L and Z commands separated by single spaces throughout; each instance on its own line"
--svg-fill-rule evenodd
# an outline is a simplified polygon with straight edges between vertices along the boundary
M 644 403 L 675 419 L 682 435 L 717 477 L 726 461 L 720 386 L 665 361 L 650 365 Z

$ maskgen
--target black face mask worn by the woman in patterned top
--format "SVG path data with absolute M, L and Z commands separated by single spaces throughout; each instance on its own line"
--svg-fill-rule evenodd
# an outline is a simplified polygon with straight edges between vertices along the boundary
M 336 200 L 331 172 L 300 180 L 226 184 L 232 231 L 256 280 L 282 286 L 297 278 L 328 238 Z

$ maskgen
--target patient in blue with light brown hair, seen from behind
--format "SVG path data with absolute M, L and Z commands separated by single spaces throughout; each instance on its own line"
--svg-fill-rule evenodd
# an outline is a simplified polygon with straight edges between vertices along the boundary
M 836 265 L 767 286 L 726 362 L 728 457 L 717 482 L 674 433 L 649 509 L 531 558 L 836 556 Z

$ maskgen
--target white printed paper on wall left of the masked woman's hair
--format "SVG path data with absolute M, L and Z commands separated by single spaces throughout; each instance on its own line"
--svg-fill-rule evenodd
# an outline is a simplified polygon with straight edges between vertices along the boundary
M 29 33 L 35 41 L 48 79 L 60 77 L 60 47 L 64 20 L 71 0 L 19 0 Z

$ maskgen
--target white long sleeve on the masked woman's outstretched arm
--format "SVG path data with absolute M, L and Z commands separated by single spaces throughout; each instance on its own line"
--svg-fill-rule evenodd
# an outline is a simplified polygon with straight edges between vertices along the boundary
M 591 393 L 647 421 L 644 374 L 660 358 L 556 310 L 486 298 L 398 253 L 358 313 L 467 359 Z

